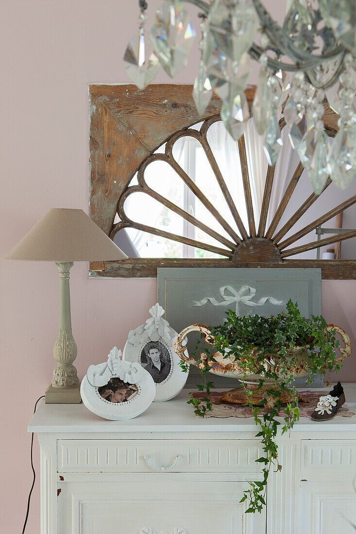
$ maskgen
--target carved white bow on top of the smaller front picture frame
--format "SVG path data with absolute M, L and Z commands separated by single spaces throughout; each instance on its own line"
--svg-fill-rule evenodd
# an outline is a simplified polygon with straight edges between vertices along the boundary
M 90 384 L 96 388 L 105 386 L 112 376 L 118 376 L 123 382 L 137 384 L 142 379 L 142 366 L 136 362 L 123 362 L 121 360 L 121 350 L 114 347 L 107 362 L 98 365 L 90 365 L 87 371 L 87 378 Z

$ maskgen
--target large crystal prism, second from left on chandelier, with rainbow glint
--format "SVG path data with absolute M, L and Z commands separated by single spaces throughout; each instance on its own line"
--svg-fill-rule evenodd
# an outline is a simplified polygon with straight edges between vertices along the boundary
M 179 0 L 167 0 L 151 28 L 154 49 L 166 73 L 174 77 L 188 63 L 195 37 L 188 11 Z

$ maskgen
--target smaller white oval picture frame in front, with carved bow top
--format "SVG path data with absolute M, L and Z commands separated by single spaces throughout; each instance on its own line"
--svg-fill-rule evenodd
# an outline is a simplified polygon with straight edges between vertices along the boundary
M 107 362 L 89 366 L 80 385 L 82 401 L 88 410 L 112 421 L 127 421 L 137 417 L 148 409 L 156 395 L 156 386 L 150 373 L 142 365 L 123 362 L 120 358 L 121 350 L 114 347 Z M 123 386 L 126 394 L 128 392 L 127 398 L 120 393 L 123 390 L 119 389 L 118 384 Z M 113 392 L 115 385 L 117 390 Z M 105 391 L 108 391 L 106 398 Z M 120 396 L 122 400 L 119 400 Z

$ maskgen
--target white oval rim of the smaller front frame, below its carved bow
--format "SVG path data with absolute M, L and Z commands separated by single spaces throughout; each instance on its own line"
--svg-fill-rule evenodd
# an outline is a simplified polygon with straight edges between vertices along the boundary
M 99 379 L 100 376 L 106 377 L 103 379 L 104 383 L 102 384 L 102 386 L 105 386 L 105 383 L 109 382 L 109 380 L 111 380 L 112 378 L 118 378 L 122 380 L 123 374 L 121 360 L 113 360 L 115 362 L 115 367 L 112 368 L 112 370 L 110 370 L 109 368 L 109 360 L 110 355 L 107 364 L 103 363 L 98 364 L 96 366 L 91 365 L 88 368 L 88 372 L 86 376 L 84 376 L 80 386 L 80 394 L 82 397 L 83 404 L 92 413 L 95 413 L 96 415 L 99 415 L 99 417 L 102 417 L 104 419 L 110 419 L 112 421 L 127 421 L 128 419 L 133 419 L 148 409 L 154 399 L 154 396 L 156 395 L 156 385 L 154 384 L 153 378 L 150 373 L 146 371 L 141 365 L 138 365 L 137 363 L 134 365 L 130 365 L 129 362 L 125 362 L 126 365 L 124 364 L 124 373 L 126 373 L 126 376 L 129 376 L 132 372 L 133 376 L 135 375 L 135 373 L 138 374 L 139 379 L 135 382 L 124 383 L 135 385 L 137 387 L 137 393 L 125 402 L 110 402 L 110 400 L 105 399 L 99 394 L 100 386 L 94 386 L 89 381 L 90 378 L 91 382 L 93 382 L 93 370 L 94 374 L 95 370 L 97 371 L 96 374 L 99 376 Z

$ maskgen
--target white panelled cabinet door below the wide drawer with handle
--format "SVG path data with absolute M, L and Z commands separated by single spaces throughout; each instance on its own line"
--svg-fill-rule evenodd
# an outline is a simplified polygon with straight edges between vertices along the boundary
M 262 534 L 265 513 L 245 514 L 241 482 L 62 482 L 58 531 L 66 534 Z

